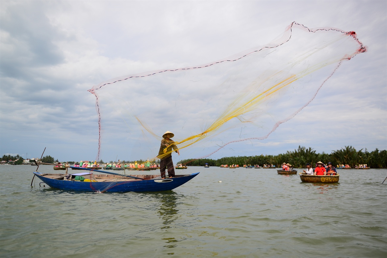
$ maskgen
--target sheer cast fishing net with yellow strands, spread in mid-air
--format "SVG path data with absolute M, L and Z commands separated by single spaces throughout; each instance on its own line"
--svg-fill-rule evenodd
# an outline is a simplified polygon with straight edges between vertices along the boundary
M 97 160 L 101 151 L 155 160 L 166 131 L 181 159 L 235 155 L 294 117 L 343 61 L 365 51 L 355 32 L 293 22 L 269 44 L 222 60 L 102 82 L 89 90 Z

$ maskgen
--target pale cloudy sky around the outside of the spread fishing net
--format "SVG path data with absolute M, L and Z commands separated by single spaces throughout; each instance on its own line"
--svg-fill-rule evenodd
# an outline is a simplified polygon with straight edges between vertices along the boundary
M 47 147 L 61 161 L 95 159 L 98 116 L 88 89 L 219 60 L 271 42 L 293 21 L 355 31 L 368 51 L 267 139 L 214 158 L 298 145 L 387 149 L 386 10 L 385 1 L 1 1 L 0 155 L 40 157 Z M 100 159 L 132 159 L 123 154 L 130 142 L 114 144 L 102 145 Z

